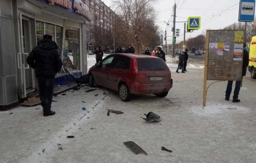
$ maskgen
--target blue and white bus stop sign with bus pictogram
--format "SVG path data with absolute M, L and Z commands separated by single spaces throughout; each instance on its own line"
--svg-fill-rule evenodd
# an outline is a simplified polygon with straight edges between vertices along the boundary
M 238 21 L 253 22 L 255 12 L 255 0 L 240 0 Z

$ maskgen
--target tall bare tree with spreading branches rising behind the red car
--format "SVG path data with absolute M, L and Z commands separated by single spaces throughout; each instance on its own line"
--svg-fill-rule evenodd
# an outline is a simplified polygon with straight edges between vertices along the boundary
M 153 2 L 156 0 L 113 0 L 116 11 L 120 14 L 121 20 L 130 37 L 130 41 L 136 44 L 135 50 L 139 53 L 140 47 L 145 47 L 147 40 L 148 24 L 154 26 L 156 13 Z M 151 33 L 155 35 L 155 33 Z M 134 37 L 133 40 L 131 40 Z M 145 40 L 144 40 L 144 39 Z

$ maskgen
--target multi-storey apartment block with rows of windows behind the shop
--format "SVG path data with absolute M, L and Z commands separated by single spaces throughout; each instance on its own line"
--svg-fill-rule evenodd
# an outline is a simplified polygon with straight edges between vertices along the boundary
M 115 18 L 116 13 L 100 0 L 83 0 L 83 2 L 88 5 L 89 10 L 92 13 L 92 25 L 88 28 L 91 29 L 91 31 L 88 31 L 88 47 L 90 50 L 93 50 L 94 46 L 98 45 L 97 38 L 93 37 L 93 29 L 98 28 L 101 31 L 106 30 L 107 33 L 111 33 L 114 23 L 113 19 Z

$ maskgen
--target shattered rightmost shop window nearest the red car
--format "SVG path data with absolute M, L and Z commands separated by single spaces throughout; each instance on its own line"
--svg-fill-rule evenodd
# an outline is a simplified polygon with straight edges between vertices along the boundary
M 79 29 L 66 27 L 63 66 L 68 71 L 80 70 Z

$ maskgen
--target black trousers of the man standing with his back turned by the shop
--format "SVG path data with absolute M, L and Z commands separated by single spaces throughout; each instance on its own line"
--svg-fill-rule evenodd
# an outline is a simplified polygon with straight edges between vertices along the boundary
M 44 112 L 51 110 L 54 78 L 37 77 L 39 96 Z

